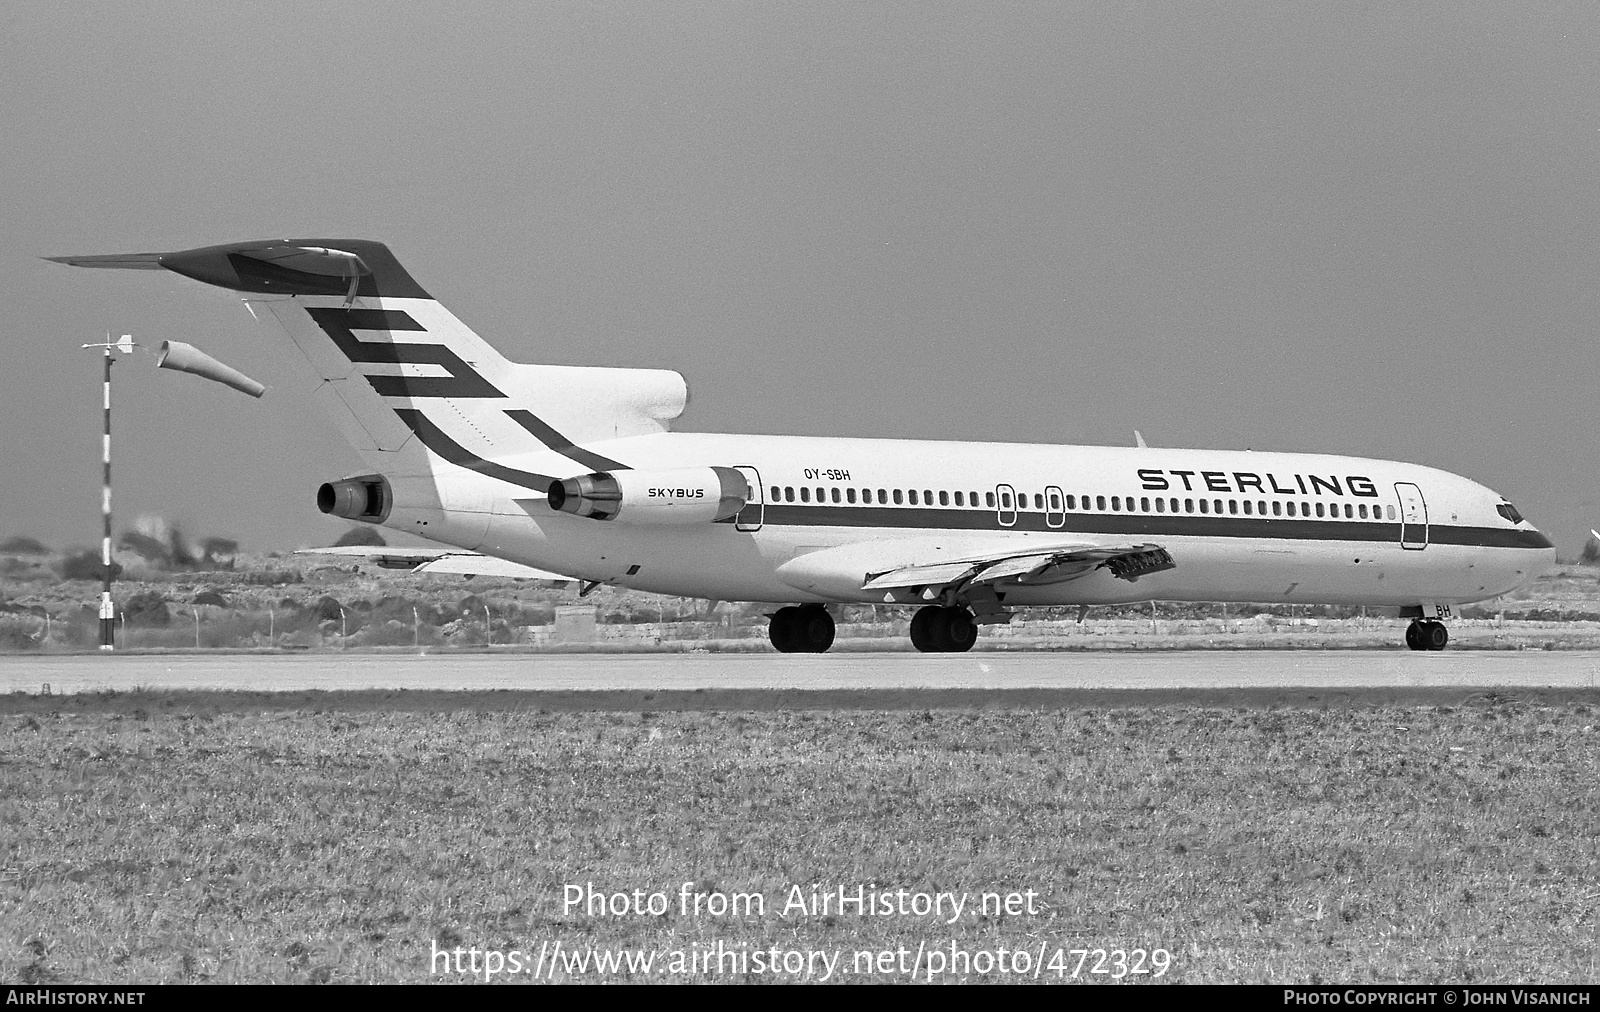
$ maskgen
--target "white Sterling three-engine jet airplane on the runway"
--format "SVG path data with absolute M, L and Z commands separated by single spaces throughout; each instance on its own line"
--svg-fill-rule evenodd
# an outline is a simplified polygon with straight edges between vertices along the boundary
M 1397 607 L 1413 650 L 1555 549 L 1501 495 L 1357 456 L 674 432 L 669 370 L 509 362 L 373 240 L 51 256 L 238 293 L 310 363 L 368 472 L 322 512 L 581 581 L 779 605 L 784 653 L 829 607 L 920 605 L 917 650 L 1014 608 L 1144 600 Z

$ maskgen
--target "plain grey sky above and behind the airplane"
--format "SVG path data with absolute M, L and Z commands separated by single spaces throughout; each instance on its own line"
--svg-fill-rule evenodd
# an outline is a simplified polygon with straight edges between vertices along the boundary
M 282 335 L 38 259 L 386 242 L 678 429 L 1298 450 L 1600 525 L 1594 3 L 38 3 L 0 22 L 0 538 L 326 544 Z

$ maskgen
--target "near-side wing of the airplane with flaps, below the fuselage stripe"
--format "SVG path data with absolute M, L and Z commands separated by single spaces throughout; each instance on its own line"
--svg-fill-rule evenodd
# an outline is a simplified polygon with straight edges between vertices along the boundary
M 1146 573 L 1170 570 L 1176 564 L 1160 544 L 1070 544 L 1048 549 L 1019 548 L 934 565 L 906 565 L 882 573 L 867 573 L 861 589 L 893 591 L 906 588 L 954 589 L 958 586 L 995 584 L 1010 580 L 1021 584 L 1064 583 L 1098 568 L 1106 568 L 1130 583 Z

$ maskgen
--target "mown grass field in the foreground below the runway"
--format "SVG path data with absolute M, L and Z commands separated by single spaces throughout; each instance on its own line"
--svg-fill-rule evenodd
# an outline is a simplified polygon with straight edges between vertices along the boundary
M 419 982 L 435 943 L 557 940 L 846 962 L 920 943 L 1142 946 L 1171 951 L 1163 980 L 1179 982 L 1597 978 L 1600 721 L 1582 703 L 619 714 L 214 698 L 0 698 L 0 978 Z M 760 892 L 768 911 L 562 905 L 582 882 L 675 903 L 688 879 Z M 1042 906 L 949 926 L 784 919 L 790 884 L 1034 889 Z

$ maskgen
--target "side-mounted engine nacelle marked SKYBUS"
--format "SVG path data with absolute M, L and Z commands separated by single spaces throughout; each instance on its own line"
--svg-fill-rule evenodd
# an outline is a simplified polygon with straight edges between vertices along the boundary
M 550 509 L 618 524 L 712 524 L 749 500 L 750 487 L 733 468 L 598 471 L 550 482 Z

